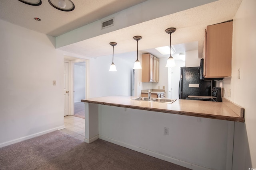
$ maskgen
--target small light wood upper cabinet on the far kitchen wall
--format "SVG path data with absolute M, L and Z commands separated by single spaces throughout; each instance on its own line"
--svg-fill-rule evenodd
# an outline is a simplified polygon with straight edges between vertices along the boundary
M 159 81 L 159 59 L 151 54 L 142 55 L 142 82 Z

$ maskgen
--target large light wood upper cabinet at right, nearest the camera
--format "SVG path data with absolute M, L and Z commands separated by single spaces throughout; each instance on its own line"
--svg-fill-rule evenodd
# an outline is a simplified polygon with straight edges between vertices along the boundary
M 231 76 L 233 21 L 208 25 L 205 36 L 204 77 Z

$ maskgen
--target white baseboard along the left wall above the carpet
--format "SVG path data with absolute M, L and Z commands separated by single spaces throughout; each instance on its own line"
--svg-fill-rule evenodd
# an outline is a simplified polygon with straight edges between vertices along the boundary
M 63 126 L 59 126 L 59 127 L 53 128 L 53 129 L 49 129 L 47 131 L 42 131 L 42 132 L 39 132 L 39 133 L 34 133 L 32 135 L 28 135 L 28 136 L 20 137 L 18 139 L 14 139 L 14 140 L 11 140 L 11 141 L 0 143 L 0 148 L 6 147 L 8 145 L 12 145 L 14 143 L 18 143 L 18 142 L 21 142 L 21 141 L 24 141 L 24 140 L 27 140 L 27 139 L 31 139 L 33 137 L 38 137 L 38 136 L 41 136 L 41 135 L 44 135 L 46 133 L 50 133 L 50 132 L 53 132 L 53 131 L 56 131 L 56 130 L 59 130 L 59 129 L 64 129 L 64 128 L 65 128 L 65 126 L 63 125 Z

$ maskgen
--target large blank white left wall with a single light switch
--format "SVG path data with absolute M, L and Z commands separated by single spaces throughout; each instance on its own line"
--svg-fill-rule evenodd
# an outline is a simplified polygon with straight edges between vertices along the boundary
M 0 147 L 63 127 L 55 38 L 0 20 L 0 44 Z

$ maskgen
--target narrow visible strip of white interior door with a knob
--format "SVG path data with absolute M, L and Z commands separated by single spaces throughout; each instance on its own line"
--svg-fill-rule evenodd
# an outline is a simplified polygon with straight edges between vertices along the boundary
M 69 63 L 64 62 L 64 116 L 70 115 L 69 109 Z

